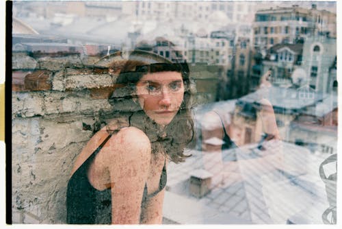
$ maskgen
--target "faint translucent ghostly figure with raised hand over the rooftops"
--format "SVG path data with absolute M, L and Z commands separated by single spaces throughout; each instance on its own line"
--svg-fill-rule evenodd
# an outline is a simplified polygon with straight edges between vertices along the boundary
M 253 176 L 282 166 L 280 134 L 272 104 L 267 99 L 270 74 L 271 71 L 267 71 L 261 77 L 257 105 L 245 104 L 241 110 L 235 108 L 231 112 L 219 107 L 202 117 L 202 158 L 205 169 L 213 175 L 212 189 L 244 180 L 247 174 Z M 256 123 L 255 132 L 241 115 Z M 233 149 L 241 147 L 255 149 L 251 155 L 240 156 L 239 151 Z M 242 176 L 239 167 L 248 172 Z

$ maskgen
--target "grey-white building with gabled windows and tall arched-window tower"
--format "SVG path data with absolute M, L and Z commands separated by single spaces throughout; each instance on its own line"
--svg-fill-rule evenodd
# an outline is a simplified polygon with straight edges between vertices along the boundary
M 275 86 L 308 85 L 320 93 L 337 90 L 336 38 L 313 36 L 303 43 L 277 44 L 267 50 L 263 60 L 265 73 L 272 69 L 270 81 Z

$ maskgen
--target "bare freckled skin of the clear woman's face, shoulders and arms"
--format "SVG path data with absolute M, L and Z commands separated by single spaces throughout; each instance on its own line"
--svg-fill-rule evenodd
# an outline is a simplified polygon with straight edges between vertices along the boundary
M 183 101 L 181 73 L 146 74 L 137 82 L 137 95 L 146 115 L 166 126 Z M 107 136 L 106 128 L 94 134 L 77 158 L 72 174 Z M 159 190 L 164 162 L 163 152 L 151 154 L 150 141 L 142 130 L 121 128 L 109 138 L 90 165 L 88 180 L 98 190 L 111 186 L 112 224 L 161 224 L 165 189 L 144 203 L 142 195 L 145 184 L 148 194 Z

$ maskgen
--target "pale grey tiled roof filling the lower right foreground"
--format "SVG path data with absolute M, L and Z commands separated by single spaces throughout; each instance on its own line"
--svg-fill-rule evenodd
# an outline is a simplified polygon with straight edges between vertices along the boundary
M 287 219 L 300 213 L 302 221 L 297 221 L 297 224 L 321 224 L 321 213 L 328 208 L 328 203 L 317 170 L 324 156 L 313 155 L 308 149 L 291 143 L 269 141 L 263 152 L 255 152 L 256 146 L 246 145 L 224 152 L 223 158 L 232 152 L 237 155 L 239 167 L 234 172 L 239 176 L 233 178 L 231 171 L 224 184 L 215 186 L 200 199 L 189 193 L 189 174 L 203 168 L 202 153 L 193 150 L 193 156 L 184 163 L 170 163 L 168 166 L 168 191 L 202 204 L 196 208 L 211 208 L 211 215 L 214 211 L 218 215 L 226 214 L 253 224 L 285 224 Z M 280 163 L 282 166 L 275 168 L 272 155 L 278 154 L 281 147 L 286 149 Z M 191 215 L 189 203 L 184 207 Z M 302 212 L 305 209 L 307 211 Z M 166 212 L 172 219 L 170 210 Z M 198 221 L 205 221 L 206 215 L 197 216 L 203 217 Z M 220 220 L 219 217 L 217 219 Z M 186 217 L 182 223 L 187 223 Z M 214 224 L 230 222 L 215 221 Z

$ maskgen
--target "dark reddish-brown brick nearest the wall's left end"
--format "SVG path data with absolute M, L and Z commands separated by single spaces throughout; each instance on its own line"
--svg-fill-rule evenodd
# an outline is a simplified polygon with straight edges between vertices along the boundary
M 25 89 L 27 91 L 51 90 L 51 71 L 38 70 L 25 76 Z

